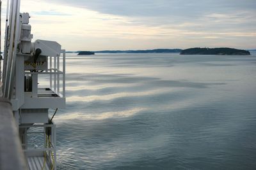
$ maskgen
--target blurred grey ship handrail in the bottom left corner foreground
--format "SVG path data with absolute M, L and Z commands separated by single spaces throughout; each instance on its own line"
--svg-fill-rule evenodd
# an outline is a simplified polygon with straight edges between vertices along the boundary
M 28 169 L 22 152 L 12 105 L 0 97 L 0 169 Z

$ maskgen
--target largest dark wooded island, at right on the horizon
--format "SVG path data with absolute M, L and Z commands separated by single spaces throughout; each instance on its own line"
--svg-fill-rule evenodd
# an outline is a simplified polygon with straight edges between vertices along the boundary
M 251 55 L 251 53 L 235 48 L 188 48 L 182 50 L 180 55 Z

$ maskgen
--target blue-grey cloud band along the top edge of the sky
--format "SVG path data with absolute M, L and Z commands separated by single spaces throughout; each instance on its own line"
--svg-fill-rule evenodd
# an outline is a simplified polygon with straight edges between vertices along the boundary
M 51 1 L 52 2 L 52 1 Z M 195 17 L 202 13 L 252 10 L 255 11 L 255 0 L 93 0 L 69 1 L 56 0 L 55 3 L 68 4 L 86 8 L 100 13 L 140 17 Z

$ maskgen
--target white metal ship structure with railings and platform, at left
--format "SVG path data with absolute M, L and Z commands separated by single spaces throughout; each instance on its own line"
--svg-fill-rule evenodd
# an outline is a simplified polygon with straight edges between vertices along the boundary
M 3 96 L 12 102 L 29 169 L 56 169 L 56 126 L 49 109 L 65 108 L 65 50 L 55 41 L 31 42 L 29 13 L 19 10 L 20 0 L 8 0 Z M 38 87 L 40 78 L 48 85 Z M 40 133 L 33 145 L 31 134 Z

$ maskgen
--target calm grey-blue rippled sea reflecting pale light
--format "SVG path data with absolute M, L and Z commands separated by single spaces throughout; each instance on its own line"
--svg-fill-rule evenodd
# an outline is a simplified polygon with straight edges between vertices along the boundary
M 256 55 L 67 57 L 58 169 L 256 169 Z

